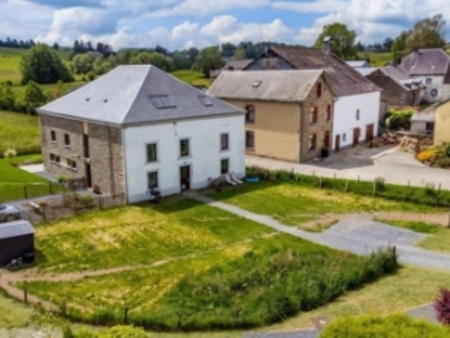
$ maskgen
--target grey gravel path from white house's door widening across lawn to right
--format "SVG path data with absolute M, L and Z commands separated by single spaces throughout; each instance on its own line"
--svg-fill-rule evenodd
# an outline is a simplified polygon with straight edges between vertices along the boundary
M 395 245 L 399 261 L 403 264 L 450 271 L 450 255 L 414 247 L 416 242 L 423 239 L 422 235 L 373 222 L 364 217 L 353 217 L 343 220 L 323 233 L 310 233 L 281 224 L 269 216 L 259 215 L 234 205 L 218 202 L 206 196 L 196 194 L 190 196 L 198 201 L 255 221 L 279 232 L 334 249 L 349 251 L 358 255 L 368 255 L 380 248 Z

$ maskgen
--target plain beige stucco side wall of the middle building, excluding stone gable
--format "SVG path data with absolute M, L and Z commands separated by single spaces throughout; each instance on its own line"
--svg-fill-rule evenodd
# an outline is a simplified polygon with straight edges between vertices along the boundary
M 298 162 L 300 154 L 300 105 L 265 101 L 225 100 L 245 110 L 255 107 L 255 123 L 246 123 L 246 131 L 253 131 L 255 148 L 247 154 Z

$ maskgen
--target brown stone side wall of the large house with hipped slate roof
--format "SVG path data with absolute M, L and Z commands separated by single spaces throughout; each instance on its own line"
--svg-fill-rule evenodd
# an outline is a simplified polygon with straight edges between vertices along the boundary
M 87 182 L 90 166 L 91 185 L 98 185 L 104 194 L 125 193 L 120 128 L 44 114 L 40 115 L 40 124 L 44 168 L 47 172 L 71 179 L 84 178 Z M 55 140 L 52 140 L 52 134 Z M 70 145 L 66 145 L 67 137 Z M 85 140 L 89 143 L 87 158 Z M 55 158 L 59 158 L 59 163 Z M 76 163 L 76 168 L 70 163 L 72 161 Z

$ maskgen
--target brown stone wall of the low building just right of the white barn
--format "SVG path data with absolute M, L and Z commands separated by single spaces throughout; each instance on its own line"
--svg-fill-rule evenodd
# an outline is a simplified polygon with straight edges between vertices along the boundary
M 383 88 L 381 100 L 386 102 L 389 106 L 418 106 L 420 104 L 420 88 L 406 90 L 391 77 L 376 72 L 370 74 L 367 78 L 380 88 Z

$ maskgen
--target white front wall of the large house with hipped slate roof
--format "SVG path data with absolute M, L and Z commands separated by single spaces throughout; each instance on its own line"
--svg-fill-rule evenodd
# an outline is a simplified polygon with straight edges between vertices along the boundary
M 191 165 L 191 189 L 208 185 L 220 176 L 220 160 L 228 158 L 230 172 L 245 175 L 244 116 L 183 120 L 124 129 L 124 152 L 128 201 L 148 200 L 148 178 L 158 172 L 163 195 L 177 194 L 180 167 Z M 220 150 L 220 135 L 229 134 L 229 150 Z M 190 156 L 180 158 L 180 139 L 189 139 Z M 147 163 L 146 145 L 157 143 L 158 161 Z

